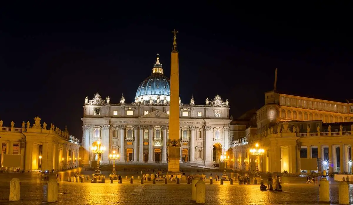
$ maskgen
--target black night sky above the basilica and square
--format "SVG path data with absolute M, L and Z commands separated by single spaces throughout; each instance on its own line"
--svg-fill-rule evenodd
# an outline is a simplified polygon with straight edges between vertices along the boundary
M 171 1 L 172 2 L 172 1 Z M 174 2 L 174 1 L 173 1 Z M 166 76 L 176 28 L 180 97 L 196 104 L 219 94 L 240 116 L 273 89 L 345 101 L 353 98 L 349 5 L 178 6 L 2 5 L 1 110 L 4 126 L 67 124 L 82 138 L 85 96 L 134 101 L 156 53 Z M 97 3 L 98 4 L 98 3 Z M 84 5 L 84 6 L 83 6 Z

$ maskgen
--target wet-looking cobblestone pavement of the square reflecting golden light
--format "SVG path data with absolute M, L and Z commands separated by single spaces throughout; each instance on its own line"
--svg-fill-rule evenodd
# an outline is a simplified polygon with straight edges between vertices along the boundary
M 67 173 L 62 173 L 65 176 Z M 54 175 L 53 175 L 54 176 Z M 17 177 L 21 180 L 20 201 L 8 201 L 10 180 Z M 191 185 L 181 181 L 180 184 L 168 181 L 145 181 L 141 195 L 131 195 L 140 184 L 135 179 L 123 179 L 123 184 L 109 181 L 105 184 L 59 182 L 58 202 L 50 204 L 195 204 L 191 201 Z M 283 192 L 261 192 L 259 185 L 230 185 L 225 181 L 220 185 L 214 181 L 209 185 L 206 181 L 206 204 L 319 204 L 318 185 L 283 184 Z M 349 185 L 351 203 L 353 204 L 353 186 Z M 331 203 L 338 204 L 338 185 L 330 185 Z M 1 174 L 0 204 L 49 204 L 47 201 L 47 185 L 37 178 L 37 174 Z M 325 204 L 325 203 L 323 203 Z M 328 203 L 326 203 L 328 204 Z

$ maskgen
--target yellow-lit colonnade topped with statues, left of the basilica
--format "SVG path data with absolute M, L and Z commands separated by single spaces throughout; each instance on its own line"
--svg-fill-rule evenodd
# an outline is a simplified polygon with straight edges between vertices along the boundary
M 79 166 L 79 140 L 53 124 L 22 122 L 22 128 L 3 127 L 0 121 L 1 170 L 28 172 L 30 170 L 62 170 Z M 25 127 L 26 126 L 26 127 Z

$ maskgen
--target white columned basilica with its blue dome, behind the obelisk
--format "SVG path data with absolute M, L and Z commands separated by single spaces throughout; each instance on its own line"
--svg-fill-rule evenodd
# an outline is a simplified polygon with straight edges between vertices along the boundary
M 113 101 L 113 100 L 112 100 Z M 99 159 L 111 163 L 109 154 L 120 155 L 119 162 L 166 163 L 169 136 L 170 81 L 164 76 L 157 57 L 152 74 L 137 87 L 132 103 L 121 96 L 111 103 L 95 94 L 85 98 L 83 106 L 84 164 Z M 180 162 L 212 166 L 220 161 L 223 152 L 232 146 L 228 100 L 219 95 L 195 104 L 179 98 Z M 106 148 L 94 154 L 90 147 L 98 141 Z

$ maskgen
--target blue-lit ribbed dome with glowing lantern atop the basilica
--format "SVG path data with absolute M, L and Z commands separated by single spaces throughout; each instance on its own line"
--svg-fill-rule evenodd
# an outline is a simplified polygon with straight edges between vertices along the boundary
M 167 102 L 170 100 L 170 79 L 164 76 L 162 64 L 159 62 L 159 57 L 157 54 L 157 62 L 154 64 L 152 69 L 152 75 L 146 78 L 137 89 L 135 95 L 135 102 L 150 102 L 152 98 L 152 103 L 157 103 L 157 98 L 159 97 L 160 103 L 166 99 Z

